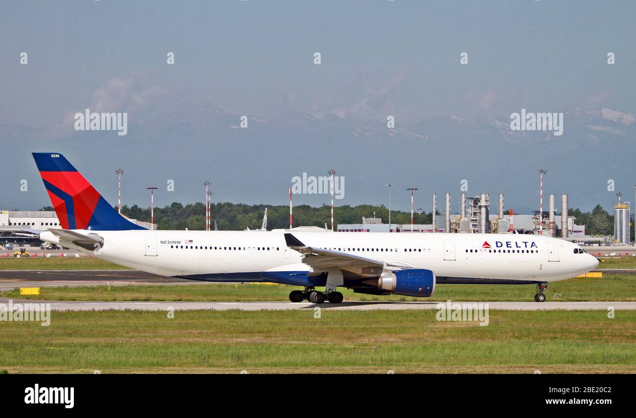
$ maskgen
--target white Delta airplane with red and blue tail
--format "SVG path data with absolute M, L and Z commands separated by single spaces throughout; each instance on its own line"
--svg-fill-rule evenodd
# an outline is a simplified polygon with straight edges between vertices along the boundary
M 438 283 L 532 284 L 543 302 L 548 283 L 598 266 L 578 245 L 539 235 L 149 231 L 119 215 L 62 154 L 33 157 L 62 226 L 42 241 L 162 276 L 303 287 L 292 302 L 338 304 L 338 288 L 431 297 Z

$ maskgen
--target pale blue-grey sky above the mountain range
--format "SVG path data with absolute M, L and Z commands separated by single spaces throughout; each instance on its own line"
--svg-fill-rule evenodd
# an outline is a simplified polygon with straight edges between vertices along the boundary
M 139 121 L 210 102 L 263 118 L 391 114 L 399 126 L 579 103 L 635 112 L 634 16 L 627 0 L 5 1 L 0 125 L 64 148 L 87 107 Z

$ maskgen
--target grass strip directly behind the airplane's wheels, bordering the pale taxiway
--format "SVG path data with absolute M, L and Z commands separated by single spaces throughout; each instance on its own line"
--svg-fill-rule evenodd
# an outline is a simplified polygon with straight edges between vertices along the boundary
M 272 301 L 289 300 L 289 292 L 296 287 L 285 285 L 197 284 L 197 285 L 125 285 L 91 287 L 43 287 L 39 297 L 45 300 L 135 300 L 135 301 Z M 553 297 L 553 293 L 561 297 Z M 427 300 L 400 295 L 374 296 L 342 290 L 345 300 Z M 534 297 L 534 285 L 438 285 L 432 300 L 518 300 L 529 301 Z M 20 298 L 18 290 L 0 293 Z M 636 300 L 636 276 L 605 274 L 602 279 L 573 278 L 551 283 L 546 292 L 548 301 L 581 300 Z

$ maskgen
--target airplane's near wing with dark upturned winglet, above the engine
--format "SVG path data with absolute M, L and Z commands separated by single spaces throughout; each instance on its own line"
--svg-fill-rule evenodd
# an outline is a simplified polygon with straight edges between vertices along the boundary
M 396 263 L 387 264 L 384 261 L 360 257 L 334 250 L 326 250 L 324 248 L 314 248 L 307 246 L 293 236 L 293 234 L 285 234 L 285 242 L 287 246 L 303 256 L 303 263 L 314 267 L 314 271 L 326 271 L 329 269 L 340 269 L 345 277 L 378 277 L 384 269 L 399 270 L 410 269 L 412 266 Z

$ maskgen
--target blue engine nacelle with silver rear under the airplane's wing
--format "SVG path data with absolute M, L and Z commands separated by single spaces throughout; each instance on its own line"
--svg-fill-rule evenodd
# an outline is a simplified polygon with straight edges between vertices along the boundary
M 378 279 L 378 288 L 396 295 L 429 297 L 435 292 L 435 273 L 427 269 L 384 273 Z

